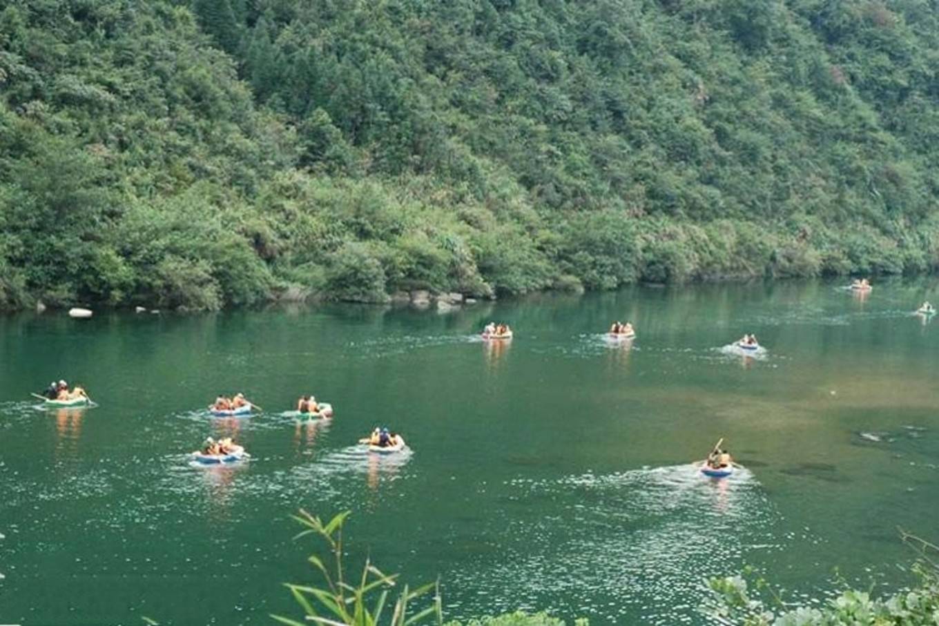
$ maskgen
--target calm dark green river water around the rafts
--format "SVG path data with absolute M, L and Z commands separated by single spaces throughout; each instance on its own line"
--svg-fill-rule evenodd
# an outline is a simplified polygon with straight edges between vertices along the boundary
M 636 287 L 454 313 L 329 306 L 0 318 L 0 622 L 269 624 L 316 580 L 288 515 L 352 510 L 349 557 L 439 577 L 448 618 L 547 609 L 706 623 L 705 576 L 764 570 L 789 598 L 832 569 L 911 582 L 897 527 L 935 535 L 939 284 Z M 515 329 L 489 345 L 486 321 Z M 630 344 L 610 345 L 613 319 Z M 731 344 L 757 334 L 765 354 Z M 100 406 L 37 408 L 64 377 Z M 265 411 L 212 419 L 220 392 Z M 304 392 L 331 423 L 282 415 Z M 408 452 L 355 445 L 377 424 Z M 187 452 L 233 435 L 240 466 Z M 718 437 L 746 466 L 690 462 Z

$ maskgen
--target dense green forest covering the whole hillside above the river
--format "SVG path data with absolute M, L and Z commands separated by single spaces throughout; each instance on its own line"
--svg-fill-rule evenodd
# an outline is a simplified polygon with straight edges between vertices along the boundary
M 0 307 L 939 266 L 936 0 L 8 0 Z

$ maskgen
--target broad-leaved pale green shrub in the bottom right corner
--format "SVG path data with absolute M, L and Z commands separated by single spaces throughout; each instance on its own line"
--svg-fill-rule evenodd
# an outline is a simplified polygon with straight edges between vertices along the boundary
M 713 602 L 705 613 L 720 624 L 736 626 L 927 626 L 939 624 L 939 567 L 931 555 L 939 548 L 910 535 L 903 536 L 920 552 L 914 572 L 916 588 L 887 598 L 845 588 L 839 596 L 811 606 L 784 603 L 762 578 L 755 584 L 744 576 L 709 581 Z

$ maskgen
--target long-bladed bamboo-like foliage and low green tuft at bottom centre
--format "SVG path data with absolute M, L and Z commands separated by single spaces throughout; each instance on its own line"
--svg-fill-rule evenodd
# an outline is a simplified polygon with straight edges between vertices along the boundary
M 349 512 L 342 512 L 324 523 L 315 515 L 300 510 L 294 519 L 303 530 L 295 539 L 316 535 L 326 543 L 330 556 L 327 559 L 311 555 L 307 558 L 322 582 L 315 585 L 287 584 L 294 600 L 300 605 L 301 619 L 271 616 L 287 626 L 304 623 L 333 624 L 337 626 L 407 626 L 408 624 L 443 624 L 443 611 L 439 586 L 436 583 L 411 589 L 405 585 L 397 594 L 394 604 L 389 604 L 390 593 L 396 585 L 398 574 L 385 574 L 366 559 L 362 572 L 349 577 L 343 553 L 343 527 Z M 415 604 L 419 606 L 414 609 Z M 382 621 L 384 619 L 384 621 Z M 586 620 L 577 620 L 577 626 L 587 626 Z M 464 626 L 460 622 L 448 622 L 446 626 Z M 564 626 L 559 619 L 546 614 L 529 616 L 512 613 L 498 618 L 474 619 L 465 626 Z

